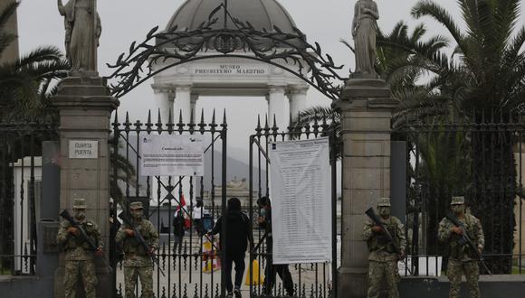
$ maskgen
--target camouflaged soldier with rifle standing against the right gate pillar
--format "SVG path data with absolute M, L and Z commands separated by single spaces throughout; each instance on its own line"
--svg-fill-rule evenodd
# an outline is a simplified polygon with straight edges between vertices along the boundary
M 401 249 L 401 256 L 396 254 L 394 246 L 384 237 L 381 227 L 367 219 L 363 228 L 363 238 L 367 241 L 368 250 L 368 298 L 379 297 L 383 275 L 387 280 L 388 297 L 398 298 L 397 283 L 400 280 L 397 271 L 397 261 L 405 257 L 406 237 L 401 220 L 390 216 L 390 199 L 381 198 L 377 201 L 377 212 L 381 221 L 387 227 L 390 235 Z

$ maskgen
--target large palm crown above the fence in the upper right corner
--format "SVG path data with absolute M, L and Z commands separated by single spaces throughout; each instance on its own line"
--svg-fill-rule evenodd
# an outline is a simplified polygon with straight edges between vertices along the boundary
M 458 111 L 492 110 L 496 118 L 522 109 L 525 98 L 525 27 L 517 29 L 520 0 L 458 0 L 466 31 L 434 1 L 418 2 L 416 18 L 428 16 L 453 37 L 455 51 L 429 57 L 420 65 Z

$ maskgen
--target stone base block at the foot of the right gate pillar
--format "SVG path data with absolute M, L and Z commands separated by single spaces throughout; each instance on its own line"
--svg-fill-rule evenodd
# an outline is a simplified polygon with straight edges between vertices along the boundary
M 366 298 L 368 269 L 339 267 L 338 298 Z

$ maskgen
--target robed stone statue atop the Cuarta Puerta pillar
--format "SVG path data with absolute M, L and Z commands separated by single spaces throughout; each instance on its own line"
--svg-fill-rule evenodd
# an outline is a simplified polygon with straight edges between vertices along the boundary
M 97 71 L 97 47 L 99 46 L 100 17 L 96 0 L 69 0 L 58 11 L 64 16 L 66 56 L 73 71 Z

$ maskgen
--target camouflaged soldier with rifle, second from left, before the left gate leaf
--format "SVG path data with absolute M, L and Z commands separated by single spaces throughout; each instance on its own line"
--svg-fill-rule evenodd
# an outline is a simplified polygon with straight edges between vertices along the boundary
M 129 204 L 134 226 L 148 244 L 149 251 L 155 252 L 158 247 L 158 232 L 151 221 L 143 219 L 142 202 L 136 201 Z M 153 261 L 148 256 L 148 251 L 135 237 L 132 227 L 126 224 L 120 226 L 116 236 L 117 242 L 123 241 L 124 250 L 124 284 L 126 298 L 135 298 L 135 285 L 137 276 L 142 285 L 142 298 L 153 298 Z

